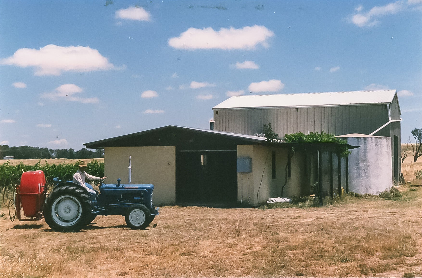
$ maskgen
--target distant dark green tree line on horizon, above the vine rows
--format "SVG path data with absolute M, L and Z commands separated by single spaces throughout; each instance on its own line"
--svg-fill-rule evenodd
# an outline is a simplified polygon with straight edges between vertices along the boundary
M 45 158 L 67 158 L 67 159 L 85 159 L 85 158 L 103 158 L 104 150 L 95 149 L 95 151 L 81 149 L 49 149 L 40 147 L 20 146 L 9 147 L 0 145 L 0 159 L 5 156 L 14 156 L 15 159 L 45 159 Z

